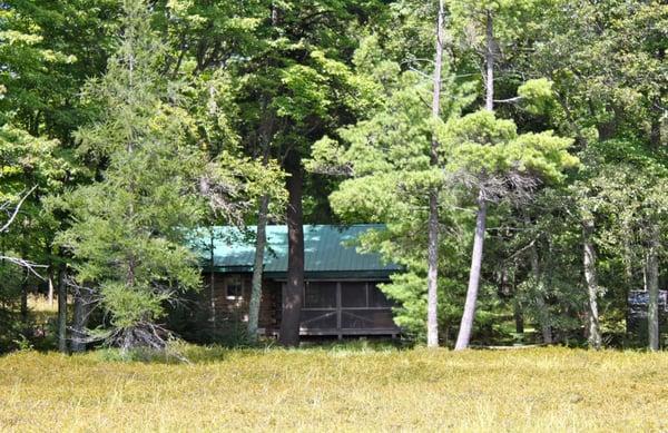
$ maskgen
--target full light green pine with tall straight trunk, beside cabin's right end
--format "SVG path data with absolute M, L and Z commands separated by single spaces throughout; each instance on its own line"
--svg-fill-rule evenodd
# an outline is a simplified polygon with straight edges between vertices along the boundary
M 443 11 L 434 8 L 435 3 L 402 6 L 405 9 L 397 8 L 391 21 L 421 26 L 420 35 L 424 38 L 423 46 L 411 55 L 424 50 L 424 55 L 433 56 L 434 30 L 425 23 Z M 436 31 L 440 30 L 436 50 L 443 49 L 446 37 L 440 26 L 436 26 Z M 308 169 L 344 179 L 330 197 L 334 211 L 344 220 L 387 225 L 386 232 L 360 242 L 363 248 L 381 250 L 387 259 L 407 267 L 406 275 L 396 276 L 383 291 L 400 303 L 395 309 L 397 323 L 435 346 L 438 327 L 443 325 L 436 318 L 441 315 L 445 321 L 440 313 L 451 308 L 444 297 L 444 302 L 436 304 L 436 291 L 448 295 L 444 288 L 450 281 L 445 275 L 454 274 L 452 268 L 456 267 L 452 259 L 445 259 L 456 242 L 449 237 L 439 240 L 438 236 L 440 226 L 453 218 L 452 197 L 443 178 L 448 154 L 440 146 L 438 131 L 441 117 L 456 116 L 471 101 L 471 86 L 458 85 L 445 61 L 434 69 L 430 63 L 405 60 L 409 52 L 405 47 L 389 46 L 389 41 L 395 40 L 394 31 L 401 35 L 407 29 L 370 35 L 355 52 L 357 80 L 373 101 L 366 118 L 341 128 L 333 135 L 336 139 L 327 137 L 318 141 Z M 429 99 L 431 110 L 424 107 Z

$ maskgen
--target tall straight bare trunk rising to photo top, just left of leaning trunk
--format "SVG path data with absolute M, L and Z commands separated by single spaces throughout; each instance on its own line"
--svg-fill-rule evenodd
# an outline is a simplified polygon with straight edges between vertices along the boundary
M 443 0 L 439 1 L 436 19 L 436 53 L 434 65 L 434 90 L 432 100 L 432 117 L 439 119 L 441 110 L 441 71 L 443 68 Z M 431 166 L 439 166 L 439 140 L 432 132 Z M 439 346 L 439 191 L 429 193 L 428 224 L 428 270 L 426 270 L 426 346 Z

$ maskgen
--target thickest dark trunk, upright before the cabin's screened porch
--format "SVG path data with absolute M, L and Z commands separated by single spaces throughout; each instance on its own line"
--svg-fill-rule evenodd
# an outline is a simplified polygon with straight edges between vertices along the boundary
M 279 343 L 299 344 L 299 315 L 304 294 L 304 224 L 302 214 L 302 164 L 295 150 L 286 159 L 287 178 L 287 283 L 283 293 Z

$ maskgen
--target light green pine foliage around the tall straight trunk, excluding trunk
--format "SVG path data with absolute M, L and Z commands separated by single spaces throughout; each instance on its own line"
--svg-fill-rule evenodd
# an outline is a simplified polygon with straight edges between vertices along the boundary
M 411 20 L 418 13 L 430 13 L 418 9 L 409 13 Z M 432 18 L 422 16 L 422 26 L 432 27 Z M 415 22 L 415 21 L 412 21 Z M 401 30 L 399 30 L 401 31 Z M 432 43 L 425 31 L 422 43 Z M 442 224 L 458 224 L 458 216 L 450 211 L 453 198 L 445 188 L 443 168 L 430 163 L 430 149 L 434 125 L 425 105 L 431 99 L 431 71 L 404 70 L 400 61 L 389 58 L 389 52 L 379 36 L 370 35 L 355 51 L 356 82 L 370 89 L 376 98 L 363 120 L 341 128 L 336 138 L 325 137 L 314 145 L 307 168 L 313 171 L 343 176 L 338 189 L 330 196 L 333 210 L 345 222 L 381 222 L 387 230 L 364 236 L 362 249 L 381 252 L 385 259 L 406 267 L 406 272 L 394 275 L 392 283 L 382 286 L 396 301 L 395 321 L 405 332 L 421 339 L 424 337 L 426 312 L 426 200 L 430 190 L 436 189 L 442 207 Z M 456 83 L 454 77 L 444 75 L 441 110 L 445 119 L 456 117 L 472 100 L 471 85 Z M 420 234 L 420 235 L 416 235 Z M 440 308 L 442 326 L 453 321 L 452 303 L 456 299 L 452 288 L 461 283 L 453 276 L 462 265 L 458 256 L 455 238 L 443 238 L 441 243 L 441 274 L 439 291 L 443 299 Z M 454 253 L 454 254 L 453 254 Z M 456 258 L 455 258 L 456 257 Z M 456 274 L 455 274 L 456 275 Z M 459 301 L 459 299 L 458 299 Z M 456 302 L 456 301 L 455 301 Z M 448 313 L 450 312 L 450 313 Z

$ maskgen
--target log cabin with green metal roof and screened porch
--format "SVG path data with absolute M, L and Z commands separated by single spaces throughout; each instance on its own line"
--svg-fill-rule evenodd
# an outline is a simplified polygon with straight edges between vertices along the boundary
M 305 225 L 305 285 L 299 334 L 303 336 L 396 336 L 393 303 L 379 284 L 400 270 L 380 255 L 361 253 L 355 239 L 382 225 Z M 203 245 L 204 299 L 209 321 L 248 319 L 256 227 L 214 227 L 199 237 Z M 263 267 L 259 333 L 281 328 L 283 289 L 287 278 L 287 227 L 269 225 Z

